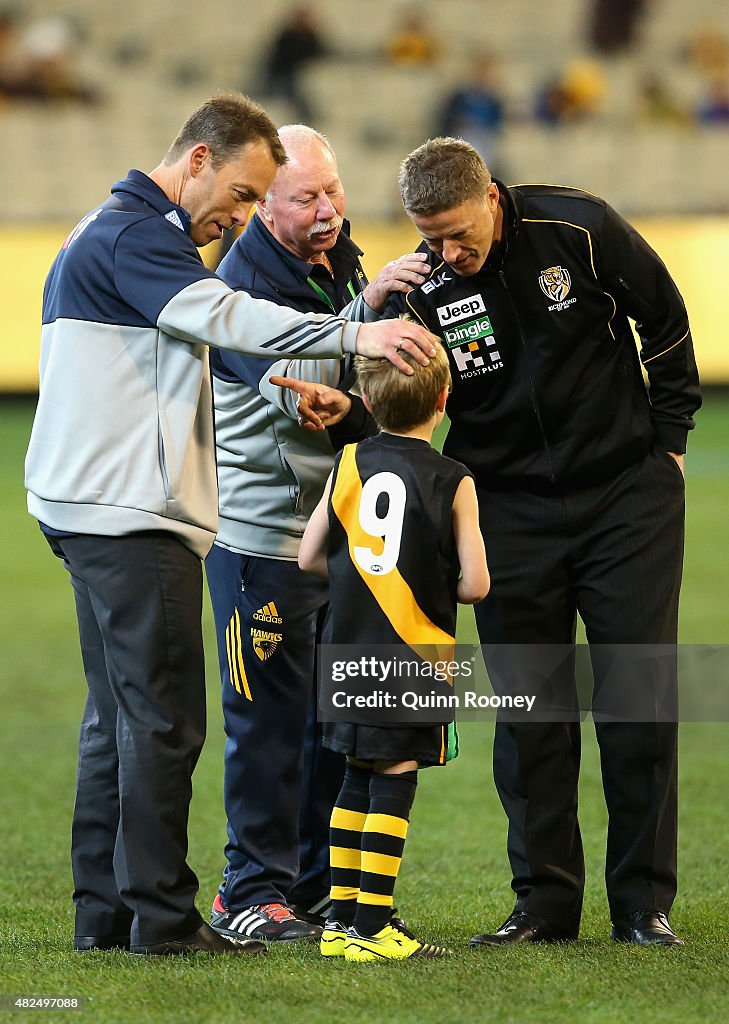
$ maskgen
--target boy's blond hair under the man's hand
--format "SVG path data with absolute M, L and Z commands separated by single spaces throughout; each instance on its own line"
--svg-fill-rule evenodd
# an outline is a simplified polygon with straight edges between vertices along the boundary
M 448 357 L 442 345 L 435 346 L 436 354 L 427 367 L 422 367 L 401 352 L 415 373 L 408 377 L 388 359 L 373 359 L 366 355 L 355 357 L 359 389 L 372 407 L 372 414 L 382 430 L 404 433 L 431 418 L 435 413 L 438 395 L 451 386 Z

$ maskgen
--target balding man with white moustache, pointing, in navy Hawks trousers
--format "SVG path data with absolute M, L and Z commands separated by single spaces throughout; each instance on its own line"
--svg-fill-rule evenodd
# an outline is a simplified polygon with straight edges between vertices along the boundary
M 327 139 L 281 128 L 287 162 L 218 267 L 231 288 L 302 312 L 379 318 L 388 296 L 421 284 L 423 253 L 368 283 L 349 238 Z M 206 568 L 218 637 L 228 842 L 211 925 L 228 938 L 317 939 L 329 907 L 329 818 L 343 759 L 320 744 L 314 670 L 327 584 L 302 572 L 299 543 L 336 447 L 368 432 L 361 403 L 303 430 L 296 377 L 346 389 L 350 359 L 265 362 L 212 356 L 220 527 Z

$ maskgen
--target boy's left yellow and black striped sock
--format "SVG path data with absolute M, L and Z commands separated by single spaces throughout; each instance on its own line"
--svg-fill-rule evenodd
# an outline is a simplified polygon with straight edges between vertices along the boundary
M 332 811 L 330 865 L 332 910 L 330 919 L 347 928 L 354 921 L 359 895 L 359 848 L 370 807 L 372 771 L 347 763 L 342 788 Z

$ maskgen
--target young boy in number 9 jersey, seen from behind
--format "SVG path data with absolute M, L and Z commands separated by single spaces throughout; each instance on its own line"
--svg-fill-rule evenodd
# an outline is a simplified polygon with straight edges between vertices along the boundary
M 449 390 L 447 356 L 438 346 L 412 377 L 391 372 L 383 359 L 361 358 L 357 378 L 380 433 L 337 458 L 299 565 L 330 578 L 333 643 L 452 646 L 457 601 L 485 597 L 488 570 L 473 477 L 430 446 Z M 331 821 L 325 956 L 451 952 L 420 942 L 393 916 L 418 768 L 445 763 L 447 731 L 445 725 L 327 727 L 324 741 L 347 755 L 347 769 Z

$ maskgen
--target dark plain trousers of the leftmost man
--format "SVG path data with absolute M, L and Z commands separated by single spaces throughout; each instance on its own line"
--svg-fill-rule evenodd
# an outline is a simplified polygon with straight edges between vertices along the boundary
M 200 558 L 170 534 L 49 538 L 71 573 L 88 697 L 72 861 L 76 934 L 133 945 L 197 929 L 186 863 L 205 738 Z

